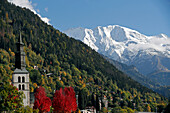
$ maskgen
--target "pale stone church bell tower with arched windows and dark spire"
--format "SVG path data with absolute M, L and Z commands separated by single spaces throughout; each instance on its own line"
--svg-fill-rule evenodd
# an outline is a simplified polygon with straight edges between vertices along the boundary
M 16 45 L 15 70 L 12 74 L 12 83 L 25 94 L 24 106 L 30 106 L 29 72 L 26 70 L 24 43 L 22 42 L 21 33 Z

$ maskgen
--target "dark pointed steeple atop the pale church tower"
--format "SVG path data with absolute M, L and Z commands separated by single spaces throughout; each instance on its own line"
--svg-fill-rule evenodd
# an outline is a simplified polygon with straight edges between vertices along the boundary
M 18 38 L 17 51 L 15 53 L 15 68 L 25 69 L 25 52 L 24 52 L 24 43 L 22 42 L 21 32 L 20 37 Z

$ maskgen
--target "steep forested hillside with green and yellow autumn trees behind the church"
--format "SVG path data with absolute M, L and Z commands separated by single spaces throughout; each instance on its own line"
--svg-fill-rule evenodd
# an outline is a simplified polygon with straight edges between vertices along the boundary
M 54 90 L 72 86 L 76 94 L 83 91 L 82 98 L 87 96 L 88 102 L 79 108 L 92 106 L 91 98 L 96 94 L 105 95 L 109 107 L 120 110 L 155 111 L 158 107 L 161 111 L 166 106 L 166 98 L 126 76 L 87 45 L 47 25 L 30 10 L 6 0 L 0 1 L 0 82 L 12 80 L 15 43 L 20 31 L 31 92 L 41 85 L 52 99 Z

